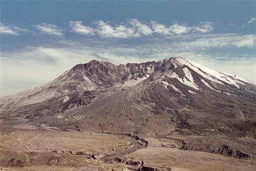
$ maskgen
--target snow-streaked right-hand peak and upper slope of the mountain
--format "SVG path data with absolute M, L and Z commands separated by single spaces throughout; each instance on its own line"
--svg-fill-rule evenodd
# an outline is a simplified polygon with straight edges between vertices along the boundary
M 239 95 L 245 89 L 255 89 L 255 84 L 244 78 L 208 69 L 182 57 L 164 60 L 152 72 L 151 77 L 142 81 L 140 85 L 149 87 L 148 85 L 157 83 L 163 84 L 165 88 L 180 95 L 209 94 L 212 91 L 226 95 Z

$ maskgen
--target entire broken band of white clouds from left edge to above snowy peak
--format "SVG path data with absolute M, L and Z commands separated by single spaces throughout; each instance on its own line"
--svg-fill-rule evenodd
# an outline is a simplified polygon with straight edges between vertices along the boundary
M 69 22 L 70 31 L 73 33 L 87 36 L 98 35 L 99 37 L 107 38 L 132 38 L 152 35 L 171 36 L 190 32 L 207 33 L 214 28 L 214 23 L 212 22 L 200 22 L 198 25 L 194 26 L 187 26 L 185 23 L 174 23 L 171 26 L 166 26 L 154 21 L 150 21 L 149 23 L 140 22 L 138 19 L 130 19 L 122 24 L 110 24 L 110 22 L 104 22 L 103 20 L 95 20 L 91 25 L 92 26 L 83 25 L 83 22 L 78 20 Z M 57 37 L 64 36 L 65 29 L 60 29 L 55 24 L 42 23 L 32 26 L 41 34 Z M 0 33 L 5 35 L 19 35 L 18 32 L 29 31 L 28 29 L 18 28 L 17 26 L 10 28 L 0 23 Z

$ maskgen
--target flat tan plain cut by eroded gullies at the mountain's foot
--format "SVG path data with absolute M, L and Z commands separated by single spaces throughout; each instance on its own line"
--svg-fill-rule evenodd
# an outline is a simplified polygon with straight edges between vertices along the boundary
M 207 140 L 206 140 L 207 139 Z M 199 148 L 208 141 L 225 137 L 164 136 L 136 140 L 129 135 L 94 132 L 9 129 L 2 132 L 0 161 L 13 170 L 253 170 L 254 159 L 228 157 L 206 149 L 184 150 L 183 143 L 193 141 Z M 225 140 L 226 139 L 226 140 Z M 145 143 L 147 142 L 147 143 Z M 255 139 L 241 138 L 243 149 L 255 146 Z M 254 142 L 254 143 L 252 143 Z M 252 143 L 252 144 L 251 144 Z M 214 145 L 210 145 L 215 148 Z M 218 145 L 217 145 L 218 146 Z M 204 151 L 205 150 L 205 151 Z M 219 150 L 219 149 L 218 149 Z M 252 152 L 254 148 L 251 149 Z M 254 150 L 255 151 L 255 150 Z M 221 155 L 220 155 L 221 154 Z M 255 153 L 254 153 L 255 155 Z

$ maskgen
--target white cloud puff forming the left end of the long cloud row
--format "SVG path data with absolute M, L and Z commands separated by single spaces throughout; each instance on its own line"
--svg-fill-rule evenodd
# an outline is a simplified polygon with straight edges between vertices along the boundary
M 93 28 L 83 25 L 81 21 L 70 21 L 69 25 L 72 32 L 80 33 L 82 35 L 95 35 Z

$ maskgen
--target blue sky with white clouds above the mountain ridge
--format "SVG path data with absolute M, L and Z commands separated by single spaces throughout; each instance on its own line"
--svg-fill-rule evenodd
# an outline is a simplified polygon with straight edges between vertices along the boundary
M 0 0 L 0 96 L 90 60 L 185 57 L 256 83 L 256 1 Z

